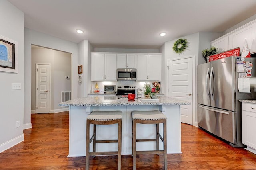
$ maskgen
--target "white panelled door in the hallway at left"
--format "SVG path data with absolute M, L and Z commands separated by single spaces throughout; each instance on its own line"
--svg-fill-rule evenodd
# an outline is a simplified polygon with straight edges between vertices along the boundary
M 50 113 L 50 68 L 36 63 L 36 113 Z

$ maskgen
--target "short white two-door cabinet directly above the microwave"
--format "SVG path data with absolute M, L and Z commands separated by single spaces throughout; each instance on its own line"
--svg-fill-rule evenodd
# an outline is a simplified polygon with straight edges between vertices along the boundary
M 137 68 L 137 55 L 117 54 L 116 68 Z

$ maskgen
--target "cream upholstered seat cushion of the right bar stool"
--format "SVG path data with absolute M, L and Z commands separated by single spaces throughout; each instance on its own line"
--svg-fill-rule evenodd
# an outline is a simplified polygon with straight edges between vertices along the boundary
M 132 119 L 137 120 L 160 120 L 167 119 L 161 111 L 152 110 L 152 111 L 132 111 Z

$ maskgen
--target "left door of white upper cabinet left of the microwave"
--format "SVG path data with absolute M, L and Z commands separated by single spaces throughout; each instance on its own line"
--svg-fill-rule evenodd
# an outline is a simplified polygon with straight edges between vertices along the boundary
M 92 53 L 91 60 L 91 80 L 104 80 L 105 75 L 105 55 L 100 53 Z

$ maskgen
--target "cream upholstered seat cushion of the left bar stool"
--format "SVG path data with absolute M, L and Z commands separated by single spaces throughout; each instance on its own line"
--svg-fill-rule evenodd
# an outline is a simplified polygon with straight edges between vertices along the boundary
M 110 121 L 122 119 L 122 111 L 93 111 L 87 116 L 88 120 Z

